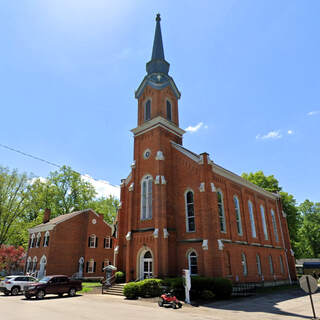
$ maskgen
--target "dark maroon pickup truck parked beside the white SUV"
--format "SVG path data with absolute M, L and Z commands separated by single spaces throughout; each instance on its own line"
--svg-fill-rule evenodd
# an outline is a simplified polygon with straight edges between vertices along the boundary
M 82 290 L 81 280 L 55 275 L 44 277 L 39 282 L 27 286 L 24 295 L 27 299 L 34 296 L 37 299 L 43 299 L 46 294 L 57 294 L 62 297 L 64 293 L 68 293 L 69 296 L 73 297 L 80 290 Z

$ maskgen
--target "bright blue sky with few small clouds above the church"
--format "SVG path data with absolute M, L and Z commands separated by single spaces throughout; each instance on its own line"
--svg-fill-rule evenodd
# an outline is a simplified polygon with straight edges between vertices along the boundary
M 4 0 L 0 144 L 119 185 L 158 12 L 184 146 L 320 201 L 318 0 Z M 0 165 L 56 169 L 2 147 Z

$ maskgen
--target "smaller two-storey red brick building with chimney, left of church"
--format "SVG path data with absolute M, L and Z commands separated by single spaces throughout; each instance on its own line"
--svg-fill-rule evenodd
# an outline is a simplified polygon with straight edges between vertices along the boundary
M 102 277 L 113 263 L 113 227 L 91 209 L 64 214 L 29 229 L 26 272 L 39 278 L 49 274 Z

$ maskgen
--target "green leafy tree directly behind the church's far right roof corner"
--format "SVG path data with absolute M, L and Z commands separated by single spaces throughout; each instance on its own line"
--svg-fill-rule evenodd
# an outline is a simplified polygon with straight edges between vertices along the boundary
M 300 249 L 300 237 L 298 233 L 302 219 L 294 196 L 282 191 L 282 188 L 279 186 L 279 181 L 274 177 L 274 175 L 266 176 L 263 171 L 257 171 L 250 172 L 249 174 L 243 173 L 241 176 L 269 192 L 280 194 L 283 210 L 287 215 L 287 223 L 293 251 L 295 252 L 296 257 L 303 254 Z

